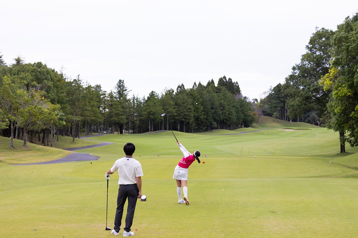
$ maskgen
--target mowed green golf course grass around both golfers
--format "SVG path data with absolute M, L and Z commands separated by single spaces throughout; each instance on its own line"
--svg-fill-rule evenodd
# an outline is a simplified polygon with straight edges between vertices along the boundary
M 190 206 L 177 203 L 172 176 L 183 154 L 170 131 L 92 137 L 113 143 L 76 151 L 100 156 L 92 163 L 13 166 L 0 155 L 0 237 L 112 237 L 105 231 L 104 175 L 123 157 L 126 142 L 136 145 L 147 196 L 137 202 L 135 237 L 358 237 L 357 149 L 347 145 L 348 153 L 339 155 L 337 133 L 292 123 L 305 126 L 174 131 L 205 161 L 189 168 Z M 239 134 L 247 131 L 253 132 Z M 108 189 L 111 228 L 117 182 L 115 173 Z

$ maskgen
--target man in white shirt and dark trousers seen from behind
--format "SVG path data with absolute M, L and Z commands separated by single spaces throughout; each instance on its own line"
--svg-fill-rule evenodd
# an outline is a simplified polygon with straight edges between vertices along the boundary
M 126 226 L 124 228 L 123 236 L 134 236 L 134 232 L 131 232 L 131 226 L 133 223 L 137 198 L 142 197 L 141 176 L 143 176 L 143 171 L 139 161 L 133 158 L 133 153 L 135 151 L 135 146 L 133 143 L 126 143 L 126 145 L 123 147 L 123 150 L 126 156 L 121 159 L 117 159 L 112 168 L 106 173 L 107 179 L 110 179 L 110 174 L 116 171 L 118 171 L 119 175 L 117 210 L 112 234 L 119 235 L 123 216 L 123 208 L 128 198 Z

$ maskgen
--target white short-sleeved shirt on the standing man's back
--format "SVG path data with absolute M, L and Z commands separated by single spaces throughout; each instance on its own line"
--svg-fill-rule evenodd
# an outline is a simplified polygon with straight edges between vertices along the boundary
M 114 162 L 111 172 L 118 171 L 118 184 L 136 184 L 136 178 L 143 176 L 142 166 L 132 157 L 123 157 Z

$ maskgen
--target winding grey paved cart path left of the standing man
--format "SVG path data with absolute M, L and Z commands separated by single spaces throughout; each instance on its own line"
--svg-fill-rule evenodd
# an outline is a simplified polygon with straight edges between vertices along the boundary
M 88 140 L 88 139 L 86 139 L 88 137 L 103 136 L 103 135 L 106 135 L 106 134 L 83 136 L 83 137 L 80 137 L 80 138 Z M 111 145 L 111 144 L 113 144 L 113 143 L 102 142 L 102 143 L 97 144 L 97 145 L 67 148 L 67 149 L 64 149 L 64 150 L 68 150 L 68 151 L 83 150 L 83 149 L 95 148 L 95 147 L 98 147 L 98 146 L 107 146 L 107 145 Z M 69 154 L 69 155 L 67 155 L 65 157 L 55 159 L 55 160 L 52 160 L 52 161 L 40 162 L 40 163 L 29 163 L 29 164 L 12 164 L 12 165 L 55 164 L 55 163 L 66 163 L 66 162 L 74 162 L 74 161 L 90 161 L 90 160 L 97 160 L 98 158 L 99 158 L 98 156 L 89 155 L 89 153 L 72 153 L 72 154 Z

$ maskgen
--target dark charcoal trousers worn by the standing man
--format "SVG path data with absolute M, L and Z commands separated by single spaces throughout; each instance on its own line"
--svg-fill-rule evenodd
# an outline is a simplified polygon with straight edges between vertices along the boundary
M 118 189 L 117 209 L 114 218 L 114 229 L 119 232 L 122 224 L 123 208 L 128 199 L 125 231 L 130 232 L 133 224 L 134 210 L 138 199 L 137 184 L 121 184 Z

